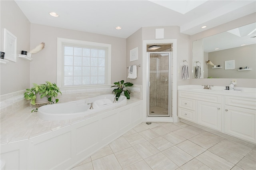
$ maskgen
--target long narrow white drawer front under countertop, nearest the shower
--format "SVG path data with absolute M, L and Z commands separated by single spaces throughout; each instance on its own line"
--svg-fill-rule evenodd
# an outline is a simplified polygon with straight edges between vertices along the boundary
M 178 97 L 189 98 L 200 101 L 208 101 L 214 103 L 221 103 L 221 95 L 196 93 L 188 91 L 178 91 Z

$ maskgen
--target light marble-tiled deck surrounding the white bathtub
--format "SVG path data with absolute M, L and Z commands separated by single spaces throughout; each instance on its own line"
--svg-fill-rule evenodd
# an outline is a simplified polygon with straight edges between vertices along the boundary
M 131 98 L 127 100 L 126 105 L 130 105 L 140 101 L 140 99 Z M 39 136 L 63 127 L 67 127 L 85 121 L 91 117 L 104 114 L 102 111 L 96 112 L 85 117 L 76 119 L 68 119 L 63 121 L 44 121 L 40 119 L 37 112 L 31 113 L 34 106 L 28 106 L 25 109 L 16 111 L 15 114 L 9 115 L 1 119 L 1 144 L 17 142 L 20 140 L 28 140 L 35 136 Z M 110 109 L 111 110 L 111 109 Z

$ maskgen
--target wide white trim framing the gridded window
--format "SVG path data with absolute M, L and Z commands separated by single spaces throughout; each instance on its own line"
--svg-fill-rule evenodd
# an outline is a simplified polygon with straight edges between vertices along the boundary
M 107 48 L 107 56 L 106 56 L 106 82 L 104 85 L 111 85 L 111 44 L 106 43 L 97 43 L 97 42 L 87 42 L 81 40 L 72 40 L 66 38 L 57 38 L 57 85 L 58 87 L 65 87 L 62 85 L 62 44 L 70 43 L 72 45 L 85 45 L 90 47 L 105 47 Z M 102 86 L 104 86 L 102 85 Z M 84 86 L 76 86 L 77 87 L 90 87 L 92 85 L 84 85 Z M 98 85 L 96 85 L 98 86 Z M 100 86 L 100 85 L 99 85 Z

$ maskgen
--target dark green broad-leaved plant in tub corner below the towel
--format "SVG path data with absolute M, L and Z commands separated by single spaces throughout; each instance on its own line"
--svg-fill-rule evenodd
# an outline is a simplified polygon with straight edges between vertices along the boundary
M 114 92 L 116 95 L 116 100 L 118 100 L 118 97 L 120 97 L 121 93 L 124 92 L 124 95 L 127 99 L 130 99 L 130 92 L 126 89 L 126 87 L 132 86 L 132 83 L 124 83 L 124 80 L 115 82 L 114 85 L 112 85 L 111 87 L 117 87 L 116 89 L 114 89 L 112 91 L 112 93 Z

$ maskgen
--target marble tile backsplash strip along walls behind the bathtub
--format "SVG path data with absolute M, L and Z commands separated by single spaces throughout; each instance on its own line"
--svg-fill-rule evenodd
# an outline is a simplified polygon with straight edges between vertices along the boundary
M 114 88 L 101 87 L 101 88 L 90 88 L 90 89 L 60 89 L 62 95 L 58 95 L 59 103 L 68 101 L 75 101 L 80 99 L 87 99 L 98 95 L 112 94 Z M 26 90 L 17 91 L 0 96 L 0 118 L 12 116 L 16 111 L 24 109 L 26 107 L 35 107 L 30 105 L 30 101 L 24 98 Z M 142 85 L 133 85 L 129 87 L 130 97 L 142 99 Z M 114 94 L 113 94 L 114 95 Z

